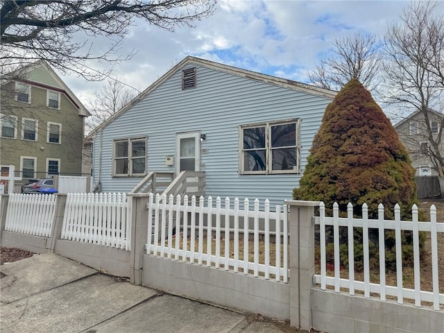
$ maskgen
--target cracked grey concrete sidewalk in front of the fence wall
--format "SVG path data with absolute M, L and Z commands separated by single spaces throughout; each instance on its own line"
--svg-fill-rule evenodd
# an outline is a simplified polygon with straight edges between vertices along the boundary
M 135 286 L 46 253 L 0 266 L 1 332 L 305 332 Z

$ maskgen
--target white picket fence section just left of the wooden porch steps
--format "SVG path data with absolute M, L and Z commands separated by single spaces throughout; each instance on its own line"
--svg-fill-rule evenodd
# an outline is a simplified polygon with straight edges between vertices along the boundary
M 131 210 L 124 193 L 67 194 L 62 239 L 130 250 Z

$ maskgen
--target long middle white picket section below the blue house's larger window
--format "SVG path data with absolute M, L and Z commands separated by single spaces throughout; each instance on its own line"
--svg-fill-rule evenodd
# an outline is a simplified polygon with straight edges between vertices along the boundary
M 253 210 L 250 210 L 247 198 L 244 200 L 244 210 L 239 209 L 238 198 L 234 199 L 233 207 L 230 205 L 230 198 L 225 198 L 225 205 L 222 207 L 221 198 L 217 197 L 216 206 L 213 207 L 211 196 L 207 198 L 206 205 L 202 196 L 198 200 L 198 205 L 196 197 L 192 196 L 191 205 L 189 205 L 188 196 L 184 196 L 183 201 L 180 196 L 177 196 L 174 203 L 173 195 L 167 200 L 166 195 L 156 194 L 154 200 L 153 194 L 150 194 L 147 207 L 149 210 L 147 253 L 199 265 L 205 262 L 206 266 L 223 267 L 225 271 L 243 271 L 244 274 L 253 274 L 255 277 L 260 273 L 267 280 L 273 278 L 271 275 L 274 275 L 276 281 L 288 282 L 287 205 L 282 205 L 282 207 L 276 205 L 275 212 L 270 212 L 268 200 L 264 203 L 264 211 L 259 211 L 257 199 Z M 259 219 L 264 221 L 263 230 L 259 230 Z M 225 223 L 230 220 L 232 220 L 232 228 L 230 228 L 230 222 Z M 248 222 L 244 223 L 239 220 L 253 221 L 253 230 L 249 229 Z M 271 224 L 274 225 L 275 232 L 270 232 Z M 173 229 L 182 230 L 182 232 L 173 234 Z M 261 262 L 259 262 L 259 234 L 264 237 L 264 259 Z M 274 244 L 270 241 L 271 234 L 275 235 Z M 212 241 L 208 241 L 207 235 L 212 235 Z M 252 236 L 253 241 L 250 241 L 249 236 Z M 230 249 L 230 241 L 232 249 Z M 223 253 L 221 253 L 222 242 Z M 273 247 L 275 259 L 271 262 L 270 250 Z M 233 255 L 230 255 L 230 252 Z M 253 261 L 239 259 L 240 257 L 248 258 L 252 252 Z

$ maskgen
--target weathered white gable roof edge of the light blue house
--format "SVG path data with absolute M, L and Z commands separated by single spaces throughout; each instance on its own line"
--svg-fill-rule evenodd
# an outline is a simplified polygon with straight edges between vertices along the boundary
M 139 103 L 139 101 L 142 101 L 146 96 L 151 94 L 158 86 L 162 85 L 164 81 L 168 80 L 173 74 L 175 74 L 181 67 L 185 67 L 186 65 L 198 65 L 202 67 L 207 67 L 209 69 L 214 69 L 216 71 L 222 71 L 227 74 L 232 74 L 235 76 L 240 76 L 243 78 L 249 78 L 251 80 L 257 80 L 263 83 L 268 83 L 271 85 L 278 85 L 280 87 L 284 87 L 287 89 L 293 89 L 300 92 L 305 92 L 307 94 L 313 94 L 316 96 L 323 96 L 327 99 L 334 99 L 334 96 L 336 96 L 337 92 L 334 92 L 329 89 L 324 89 L 320 87 L 315 87 L 314 85 L 307 85 L 305 83 L 296 82 L 293 80 L 287 80 L 285 78 L 278 78 L 276 76 L 271 76 L 267 74 L 261 74 L 257 73 L 256 71 L 249 71 L 247 69 L 240 69 L 238 67 L 233 67 L 229 65 L 223 65 L 219 62 L 213 62 L 210 60 L 205 60 L 201 58 L 196 58 L 193 56 L 187 56 L 182 61 L 178 62 L 176 66 L 171 68 L 169 71 L 167 71 L 166 74 L 161 76 L 159 79 L 155 81 L 152 85 L 150 85 L 148 88 L 146 88 L 143 92 L 141 92 L 138 96 L 135 97 L 132 101 L 130 101 L 128 104 L 124 105 L 123 108 L 121 108 L 116 113 L 112 114 L 108 119 L 103 121 L 99 126 L 94 128 L 87 137 L 91 138 L 96 135 L 99 130 L 105 128 L 108 126 L 109 123 L 112 123 L 115 119 L 121 116 L 121 114 L 128 111 L 130 108 L 132 108 L 135 104 Z

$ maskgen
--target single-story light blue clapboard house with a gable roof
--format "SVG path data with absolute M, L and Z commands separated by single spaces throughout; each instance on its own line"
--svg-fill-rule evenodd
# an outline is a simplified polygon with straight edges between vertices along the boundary
M 205 171 L 205 196 L 282 204 L 335 94 L 189 56 L 89 135 L 93 181 L 128 192 L 151 171 Z

